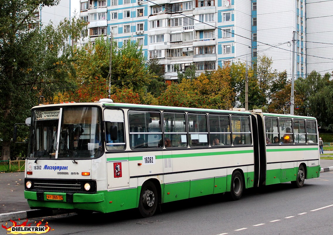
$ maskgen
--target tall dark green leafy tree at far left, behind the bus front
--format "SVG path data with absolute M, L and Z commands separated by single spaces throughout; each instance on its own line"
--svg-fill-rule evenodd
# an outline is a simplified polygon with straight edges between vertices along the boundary
M 58 0 L 3 0 L 0 11 L 0 139 L 1 160 L 10 158 L 10 140 L 15 123 L 30 116 L 39 95 L 53 97 L 60 87 L 70 86 L 71 47 L 69 24 L 54 29 L 33 28 L 33 13 Z

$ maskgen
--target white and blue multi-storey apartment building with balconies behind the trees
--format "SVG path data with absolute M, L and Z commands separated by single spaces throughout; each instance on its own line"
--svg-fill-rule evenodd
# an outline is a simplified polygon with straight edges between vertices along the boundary
M 297 32 L 295 75 L 306 74 L 303 0 L 81 0 L 89 22 L 81 45 L 113 32 L 121 47 L 129 39 L 147 58 L 165 65 L 166 79 L 191 64 L 197 72 L 225 63 L 272 57 L 273 68 L 291 72 L 291 43 Z

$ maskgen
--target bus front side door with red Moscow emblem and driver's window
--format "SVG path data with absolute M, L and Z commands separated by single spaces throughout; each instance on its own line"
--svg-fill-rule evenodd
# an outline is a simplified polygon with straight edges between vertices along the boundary
M 129 186 L 129 156 L 125 150 L 124 112 L 104 109 L 108 189 Z

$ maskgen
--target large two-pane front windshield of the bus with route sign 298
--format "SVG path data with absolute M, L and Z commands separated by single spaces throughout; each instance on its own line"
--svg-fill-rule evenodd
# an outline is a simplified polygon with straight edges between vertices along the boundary
M 31 123 L 30 158 L 94 158 L 102 154 L 97 107 L 34 110 Z

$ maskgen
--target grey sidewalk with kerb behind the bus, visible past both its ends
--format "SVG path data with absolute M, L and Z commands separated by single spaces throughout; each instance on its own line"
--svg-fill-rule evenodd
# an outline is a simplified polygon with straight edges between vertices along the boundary
M 321 171 L 333 171 L 333 160 L 320 160 Z M 24 172 L 0 173 L 0 222 L 52 215 L 52 210 L 32 210 L 24 198 Z M 56 211 L 55 211 L 56 212 Z

